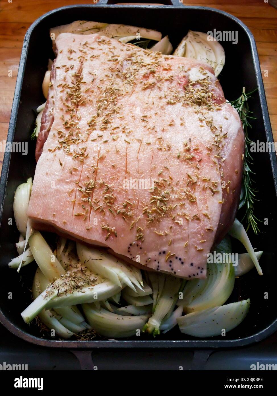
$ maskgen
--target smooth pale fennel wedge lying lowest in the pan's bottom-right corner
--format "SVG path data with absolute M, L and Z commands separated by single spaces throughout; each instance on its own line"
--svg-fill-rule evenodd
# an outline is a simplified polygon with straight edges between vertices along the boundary
M 194 337 L 214 337 L 221 335 L 222 330 L 230 331 L 238 326 L 247 315 L 249 305 L 248 299 L 192 312 L 177 318 L 177 323 L 182 333 Z

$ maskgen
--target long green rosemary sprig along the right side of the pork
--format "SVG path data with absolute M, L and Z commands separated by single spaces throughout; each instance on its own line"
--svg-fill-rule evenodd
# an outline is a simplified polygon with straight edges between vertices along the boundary
M 254 215 L 254 201 L 256 201 L 256 193 L 258 190 L 253 187 L 253 175 L 254 172 L 251 170 L 251 166 L 253 165 L 253 158 L 249 152 L 249 146 L 251 144 L 251 139 L 249 139 L 248 128 L 252 128 L 249 120 L 255 120 L 255 117 L 252 117 L 252 111 L 249 110 L 249 105 L 247 100 L 251 97 L 251 95 L 256 91 L 245 93 L 245 87 L 243 87 L 241 96 L 230 102 L 230 104 L 237 110 L 239 117 L 242 122 L 242 127 L 245 135 L 245 154 L 244 154 L 244 162 L 243 162 L 243 187 L 241 189 L 241 197 L 239 202 L 239 209 L 244 208 L 245 213 L 243 215 L 243 219 L 247 219 L 247 228 L 246 231 L 251 226 L 253 228 L 254 234 L 257 235 L 260 232 L 258 228 L 258 221 L 260 221 Z

